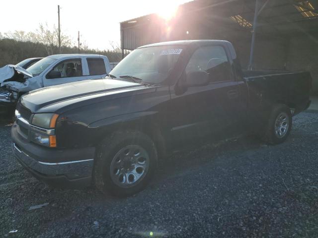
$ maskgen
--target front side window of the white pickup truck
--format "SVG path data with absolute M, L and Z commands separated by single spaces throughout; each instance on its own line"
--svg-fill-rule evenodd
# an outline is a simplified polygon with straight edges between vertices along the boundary
M 52 72 L 53 71 L 53 72 Z M 49 75 L 55 75 L 50 77 Z M 60 76 L 59 76 L 60 75 Z M 81 60 L 65 60 L 57 64 L 47 75 L 46 78 L 69 78 L 83 76 Z

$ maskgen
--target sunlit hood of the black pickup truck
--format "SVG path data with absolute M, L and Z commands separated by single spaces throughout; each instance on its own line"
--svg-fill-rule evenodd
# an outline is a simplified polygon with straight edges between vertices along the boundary
M 42 111 L 43 108 L 53 104 L 56 106 L 60 104 L 57 108 L 61 108 L 75 102 L 103 97 L 107 93 L 118 94 L 127 90 L 145 87 L 140 83 L 122 80 L 90 79 L 31 91 L 21 97 L 21 104 L 32 112 L 38 112 L 38 110 L 41 109 Z

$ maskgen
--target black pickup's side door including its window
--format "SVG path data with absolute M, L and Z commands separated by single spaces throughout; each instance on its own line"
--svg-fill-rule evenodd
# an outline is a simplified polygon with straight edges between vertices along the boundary
M 222 46 L 204 46 L 191 56 L 184 74 L 206 71 L 209 83 L 171 92 L 171 137 L 181 143 L 211 133 L 226 134 L 234 126 L 239 110 L 239 88 L 231 70 L 231 60 Z

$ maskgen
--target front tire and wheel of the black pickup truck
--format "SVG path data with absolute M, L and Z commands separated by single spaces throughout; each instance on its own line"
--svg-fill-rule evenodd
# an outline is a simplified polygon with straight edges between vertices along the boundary
M 119 131 L 97 148 L 93 177 L 105 194 L 119 197 L 138 193 L 157 167 L 157 150 L 149 136 L 139 131 Z

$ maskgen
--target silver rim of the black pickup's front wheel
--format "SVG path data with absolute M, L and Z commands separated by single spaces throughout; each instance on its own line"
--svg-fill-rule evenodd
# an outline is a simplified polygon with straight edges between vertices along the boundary
M 113 182 L 120 187 L 130 187 L 139 183 L 149 170 L 149 155 L 139 145 L 127 145 L 120 149 L 110 164 Z

